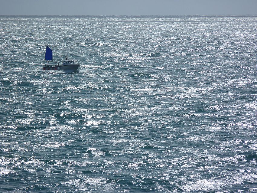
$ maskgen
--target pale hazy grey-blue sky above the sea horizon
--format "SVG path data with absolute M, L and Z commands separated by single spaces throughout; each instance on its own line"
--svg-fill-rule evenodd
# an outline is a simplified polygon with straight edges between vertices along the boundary
M 257 0 L 0 0 L 0 15 L 257 15 Z

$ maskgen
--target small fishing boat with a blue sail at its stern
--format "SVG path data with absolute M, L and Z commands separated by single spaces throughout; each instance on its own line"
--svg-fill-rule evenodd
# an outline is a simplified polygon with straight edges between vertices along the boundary
M 60 70 L 63 72 L 79 71 L 78 68 L 80 67 L 80 64 L 77 64 L 75 60 L 70 60 L 68 56 L 65 56 L 65 59 L 62 60 L 61 64 L 59 64 L 59 62 L 57 61 L 53 61 L 53 50 L 54 50 L 54 44 L 52 49 L 49 46 L 46 46 L 46 53 L 45 53 L 46 63 L 43 66 L 43 70 Z

